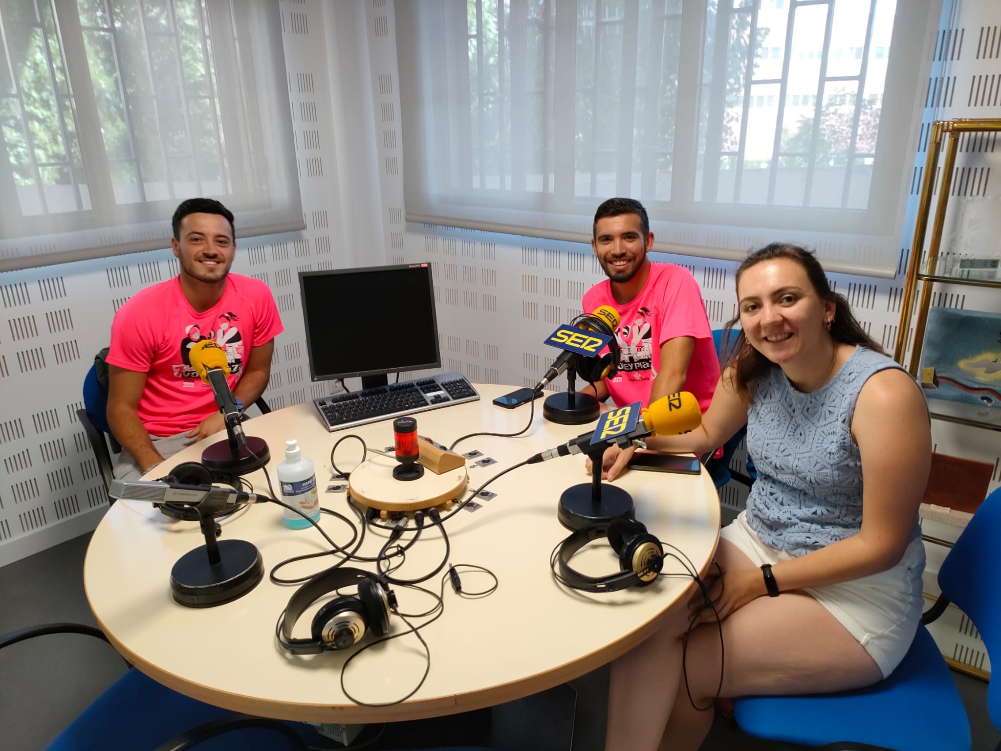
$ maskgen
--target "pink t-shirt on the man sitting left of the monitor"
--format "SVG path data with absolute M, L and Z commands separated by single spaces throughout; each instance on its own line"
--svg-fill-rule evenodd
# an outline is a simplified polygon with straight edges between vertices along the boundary
M 197 341 L 213 339 L 226 350 L 234 389 L 251 347 L 281 331 L 278 308 L 263 281 L 227 274 L 222 297 L 199 313 L 175 276 L 136 292 L 118 308 L 107 361 L 147 373 L 139 419 L 151 436 L 174 436 L 218 410 L 211 388 L 191 367 L 190 348 Z

